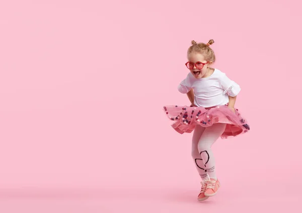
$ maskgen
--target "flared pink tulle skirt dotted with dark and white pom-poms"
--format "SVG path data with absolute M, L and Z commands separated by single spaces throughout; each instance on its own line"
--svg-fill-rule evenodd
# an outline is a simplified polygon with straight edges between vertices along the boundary
M 208 127 L 214 123 L 226 123 L 221 138 L 237 136 L 250 130 L 247 120 L 242 117 L 239 110 L 235 113 L 226 105 L 204 108 L 188 106 L 164 106 L 163 109 L 170 120 L 171 125 L 177 132 L 190 133 L 196 125 Z

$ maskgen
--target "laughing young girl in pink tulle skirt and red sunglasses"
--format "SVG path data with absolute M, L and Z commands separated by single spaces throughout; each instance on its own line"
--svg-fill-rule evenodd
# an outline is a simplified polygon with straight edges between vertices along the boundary
M 219 137 L 236 136 L 250 130 L 247 120 L 235 108 L 240 86 L 220 70 L 210 67 L 215 61 L 210 48 L 213 43 L 213 40 L 206 44 L 192 41 L 188 49 L 186 66 L 190 72 L 178 90 L 187 94 L 191 106 L 164 106 L 177 132 L 194 130 L 192 157 L 201 177 L 199 201 L 215 195 L 220 186 L 211 151 L 213 143 Z

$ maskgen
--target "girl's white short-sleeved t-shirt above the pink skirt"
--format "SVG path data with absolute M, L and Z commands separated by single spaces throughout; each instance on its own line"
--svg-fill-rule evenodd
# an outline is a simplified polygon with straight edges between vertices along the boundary
M 194 90 L 194 104 L 199 107 L 213 107 L 229 103 L 229 95 L 235 97 L 240 92 L 240 86 L 230 80 L 225 73 L 214 69 L 211 76 L 196 79 L 192 73 L 187 75 L 178 86 L 178 91 L 188 93 Z

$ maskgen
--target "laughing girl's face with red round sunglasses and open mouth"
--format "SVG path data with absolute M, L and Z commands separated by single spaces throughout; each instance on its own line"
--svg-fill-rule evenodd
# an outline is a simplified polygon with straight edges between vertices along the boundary
M 190 72 L 193 74 L 193 76 L 196 79 L 203 78 L 205 76 L 205 74 L 207 73 L 208 64 L 209 64 L 209 63 L 207 63 L 206 60 L 204 60 L 203 55 L 200 53 L 191 52 L 188 55 L 188 60 L 189 60 L 189 63 L 187 66 L 189 66 L 188 68 L 190 69 Z M 202 63 L 206 63 L 206 64 L 203 65 Z M 191 65 L 191 67 L 190 67 L 190 65 Z

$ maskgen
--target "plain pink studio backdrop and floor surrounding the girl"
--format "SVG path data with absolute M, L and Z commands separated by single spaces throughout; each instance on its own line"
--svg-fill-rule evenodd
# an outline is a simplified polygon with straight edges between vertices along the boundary
M 1 212 L 300 212 L 301 3 L 1 1 Z M 248 134 L 213 146 L 198 203 L 191 134 L 163 105 L 191 40 L 240 84 Z M 296 111 L 294 111 L 296 110 Z

